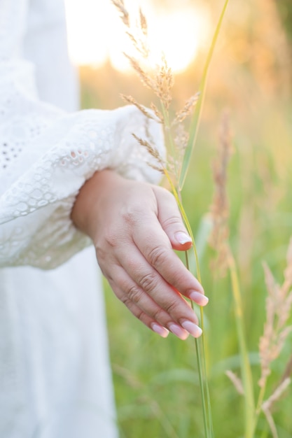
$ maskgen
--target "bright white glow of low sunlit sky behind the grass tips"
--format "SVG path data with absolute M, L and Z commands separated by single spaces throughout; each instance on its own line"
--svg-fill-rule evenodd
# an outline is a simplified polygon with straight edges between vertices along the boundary
M 139 6 L 146 15 L 154 62 L 164 52 L 173 71 L 190 64 L 206 43 L 210 27 L 207 10 L 177 3 L 177 8 L 158 8 L 149 0 L 125 0 L 133 20 Z M 66 0 L 66 9 L 69 53 L 75 64 L 100 66 L 109 59 L 116 69 L 129 68 L 123 52 L 131 54 L 130 41 L 111 0 Z

